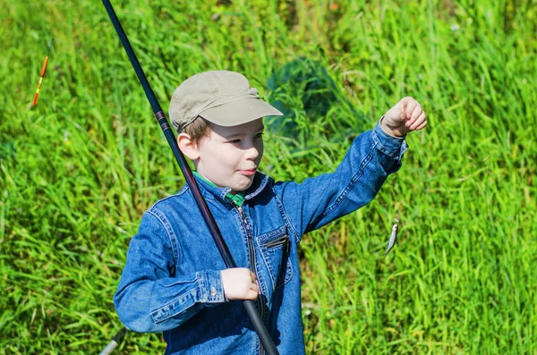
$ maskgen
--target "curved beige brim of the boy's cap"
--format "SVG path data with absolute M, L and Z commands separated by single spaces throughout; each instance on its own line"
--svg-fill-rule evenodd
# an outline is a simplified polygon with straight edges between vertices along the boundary
M 200 116 L 220 126 L 236 126 L 265 116 L 283 116 L 260 98 L 246 97 L 200 112 Z

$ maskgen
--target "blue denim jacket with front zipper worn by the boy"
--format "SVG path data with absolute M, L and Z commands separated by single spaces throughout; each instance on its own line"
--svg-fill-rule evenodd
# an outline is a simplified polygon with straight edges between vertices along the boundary
M 404 139 L 379 124 L 362 133 L 334 173 L 303 183 L 275 182 L 257 173 L 246 191 L 243 217 L 228 188 L 197 180 L 238 267 L 253 266 L 258 309 L 280 354 L 303 354 L 298 246 L 305 232 L 371 201 L 401 166 Z M 249 234 L 251 241 L 249 241 Z M 188 186 L 144 214 L 132 238 L 115 309 L 135 332 L 163 332 L 166 354 L 260 354 L 242 301 L 224 296 L 225 269 Z

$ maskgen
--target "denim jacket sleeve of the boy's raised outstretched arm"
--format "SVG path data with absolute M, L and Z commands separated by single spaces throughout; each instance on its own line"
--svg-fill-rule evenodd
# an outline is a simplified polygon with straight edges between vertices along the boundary
M 334 173 L 324 173 L 302 183 L 277 182 L 275 192 L 294 227 L 298 241 L 329 222 L 366 205 L 379 192 L 388 174 L 401 167 L 407 149 L 404 138 L 395 138 L 379 123 L 354 139 Z

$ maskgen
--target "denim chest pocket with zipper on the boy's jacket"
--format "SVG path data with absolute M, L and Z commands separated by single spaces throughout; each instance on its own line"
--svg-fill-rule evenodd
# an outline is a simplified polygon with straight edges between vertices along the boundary
M 293 276 L 289 251 L 291 241 L 282 226 L 275 231 L 262 234 L 258 237 L 261 255 L 270 274 L 273 290 L 283 286 Z

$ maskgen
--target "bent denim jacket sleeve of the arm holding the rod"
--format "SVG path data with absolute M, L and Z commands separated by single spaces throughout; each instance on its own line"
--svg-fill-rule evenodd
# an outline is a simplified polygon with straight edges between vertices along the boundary
M 164 218 L 150 209 L 142 217 L 114 295 L 118 316 L 135 332 L 173 329 L 201 308 L 226 301 L 219 271 L 175 275 L 175 236 Z

